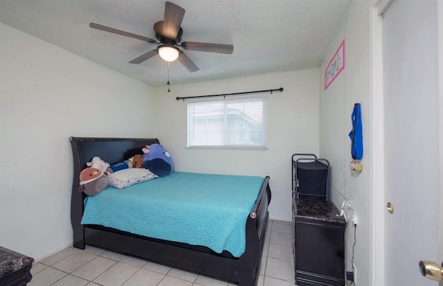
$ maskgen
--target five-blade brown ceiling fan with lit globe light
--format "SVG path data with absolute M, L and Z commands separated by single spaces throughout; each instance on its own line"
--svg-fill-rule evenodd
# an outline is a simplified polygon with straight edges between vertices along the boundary
M 179 60 L 183 66 L 188 69 L 191 73 L 198 71 L 199 68 L 190 60 L 190 58 L 183 53 L 179 48 L 183 48 L 188 51 L 202 51 L 210 53 L 226 53 L 231 54 L 234 51 L 233 45 L 227 44 L 210 44 L 201 42 L 181 42 L 181 36 L 183 35 L 183 29 L 181 28 L 181 21 L 185 15 L 186 10 L 180 6 L 166 1 L 165 3 L 165 16 L 163 21 L 158 21 L 154 24 L 155 39 L 150 39 L 149 37 L 144 37 L 141 35 L 136 35 L 133 33 L 128 33 L 123 30 L 117 30 L 115 28 L 110 28 L 96 23 L 90 23 L 91 28 L 96 28 L 98 30 L 104 30 L 105 32 L 114 33 L 118 35 L 123 35 L 125 37 L 132 37 L 134 39 L 141 39 L 142 41 L 161 44 L 157 46 L 154 50 L 149 51 L 140 57 L 136 57 L 134 60 L 130 61 L 130 64 L 140 64 L 145 60 L 149 60 L 151 57 L 160 55 L 160 57 L 168 62 L 174 60 Z

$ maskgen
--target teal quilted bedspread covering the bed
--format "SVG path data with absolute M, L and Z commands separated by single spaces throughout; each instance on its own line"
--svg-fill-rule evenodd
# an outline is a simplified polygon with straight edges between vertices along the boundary
M 82 224 L 150 238 L 244 253 L 246 218 L 262 177 L 172 172 L 122 190 L 109 187 L 87 197 Z

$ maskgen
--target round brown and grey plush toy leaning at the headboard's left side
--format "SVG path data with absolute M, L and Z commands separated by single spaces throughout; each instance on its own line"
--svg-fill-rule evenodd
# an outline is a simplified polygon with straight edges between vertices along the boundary
M 89 167 L 80 172 L 80 192 L 93 196 L 109 186 L 109 178 L 97 168 Z

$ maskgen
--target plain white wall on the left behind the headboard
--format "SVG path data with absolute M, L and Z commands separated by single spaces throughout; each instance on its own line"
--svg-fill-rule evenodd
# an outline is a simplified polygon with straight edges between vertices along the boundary
M 0 24 L 0 245 L 72 244 L 69 136 L 154 136 L 154 88 Z

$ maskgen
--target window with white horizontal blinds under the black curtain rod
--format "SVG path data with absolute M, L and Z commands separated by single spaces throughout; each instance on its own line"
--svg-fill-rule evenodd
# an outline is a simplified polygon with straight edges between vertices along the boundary
M 188 103 L 188 147 L 266 147 L 266 97 Z

